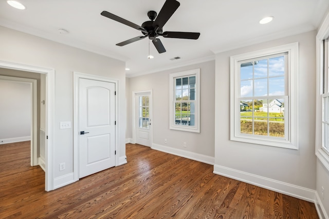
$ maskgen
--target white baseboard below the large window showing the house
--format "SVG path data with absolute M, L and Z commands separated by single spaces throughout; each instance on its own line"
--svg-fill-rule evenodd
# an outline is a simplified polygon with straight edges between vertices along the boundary
M 260 175 L 254 175 L 251 173 L 243 172 L 240 170 L 234 170 L 219 165 L 214 165 L 213 173 L 227 176 L 229 178 L 234 178 L 234 180 L 239 180 L 265 189 L 269 189 L 272 191 L 297 197 L 300 198 L 301 200 L 305 200 L 308 202 L 313 202 L 313 203 L 315 202 L 316 191 L 312 189 L 307 189 L 293 184 L 272 180 L 270 178 L 266 178 Z

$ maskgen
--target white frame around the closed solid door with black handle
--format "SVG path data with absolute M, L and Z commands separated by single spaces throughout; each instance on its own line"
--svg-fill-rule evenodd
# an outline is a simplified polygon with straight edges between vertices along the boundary
M 115 90 L 118 90 L 118 80 L 103 77 L 103 76 L 97 76 L 92 74 L 84 74 L 79 72 L 73 72 L 74 76 L 74 123 L 73 123 L 73 171 L 74 171 L 74 181 L 79 181 L 79 79 L 85 78 L 85 79 L 91 79 L 96 81 L 102 81 L 102 82 L 111 82 L 115 84 Z M 118 94 L 115 95 L 115 120 L 118 121 Z M 118 132 L 118 124 L 115 126 L 115 150 L 117 151 L 115 155 L 115 166 L 119 164 L 119 147 L 118 147 L 118 139 L 119 139 L 119 132 Z

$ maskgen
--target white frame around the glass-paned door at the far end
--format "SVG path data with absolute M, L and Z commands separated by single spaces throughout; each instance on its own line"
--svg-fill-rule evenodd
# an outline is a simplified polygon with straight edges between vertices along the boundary
M 151 121 L 151 126 L 150 126 L 150 142 L 151 142 L 151 148 L 153 147 L 153 90 L 143 90 L 143 91 L 133 91 L 133 144 L 136 144 L 136 120 L 137 120 L 137 115 L 136 115 L 136 95 L 142 94 L 142 93 L 150 93 L 150 98 L 151 98 L 151 104 L 149 106 L 150 109 L 150 121 Z

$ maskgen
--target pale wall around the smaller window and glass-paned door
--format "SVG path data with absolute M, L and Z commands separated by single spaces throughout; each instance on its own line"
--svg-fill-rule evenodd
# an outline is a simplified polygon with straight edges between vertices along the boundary
M 169 129 L 169 74 L 196 68 L 200 68 L 200 133 L 171 130 Z M 127 100 L 130 102 L 133 91 L 153 90 L 152 148 L 194 158 L 194 160 L 213 163 L 215 127 L 214 61 L 132 77 L 129 78 L 129 82 L 130 94 Z M 129 110 L 129 117 L 131 118 L 131 108 Z M 127 138 L 132 138 L 131 130 L 127 134 L 130 134 L 126 136 Z M 164 142 L 165 138 L 167 138 L 167 144 Z M 183 142 L 187 143 L 186 148 L 183 147 Z

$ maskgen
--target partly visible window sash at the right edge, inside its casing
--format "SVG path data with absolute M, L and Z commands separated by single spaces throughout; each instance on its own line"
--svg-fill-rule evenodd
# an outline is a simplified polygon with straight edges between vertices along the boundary
M 329 74 L 329 42 L 328 39 L 323 41 L 323 76 L 322 76 L 322 144 L 321 149 L 329 155 L 329 89 L 328 89 L 328 74 Z

